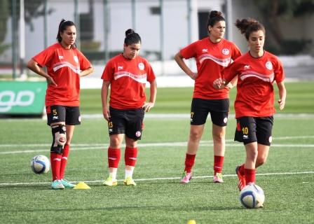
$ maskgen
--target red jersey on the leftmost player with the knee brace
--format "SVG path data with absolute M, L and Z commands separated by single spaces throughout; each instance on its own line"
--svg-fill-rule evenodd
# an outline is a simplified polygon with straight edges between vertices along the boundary
M 81 70 L 91 67 L 90 62 L 76 48 L 64 49 L 60 43 L 50 45 L 33 57 L 40 66 L 46 66 L 55 85 L 48 85 L 46 106 L 79 106 Z

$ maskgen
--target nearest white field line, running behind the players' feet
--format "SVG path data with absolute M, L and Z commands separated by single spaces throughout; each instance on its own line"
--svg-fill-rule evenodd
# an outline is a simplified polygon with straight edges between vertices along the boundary
M 282 173 L 265 173 L 265 174 L 256 174 L 257 176 L 280 176 L 280 175 L 296 175 L 296 174 L 314 174 L 314 171 L 306 172 L 282 172 Z M 224 177 L 233 177 L 237 176 L 236 174 L 224 174 Z M 212 176 L 193 176 L 193 179 L 210 179 Z M 134 179 L 135 181 L 167 181 L 167 180 L 178 180 L 182 177 L 161 177 L 161 178 L 151 178 L 151 179 Z M 104 180 L 97 181 L 83 181 L 85 183 L 102 183 Z M 118 181 L 123 181 L 118 180 Z M 71 181 L 71 183 L 78 183 L 81 181 Z M 0 186 L 36 186 L 50 184 L 50 182 L 20 182 L 20 183 L 0 183 Z

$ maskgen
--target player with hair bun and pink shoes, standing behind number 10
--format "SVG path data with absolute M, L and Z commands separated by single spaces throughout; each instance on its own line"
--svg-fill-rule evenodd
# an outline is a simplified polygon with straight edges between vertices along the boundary
M 221 70 L 240 57 L 238 47 L 224 39 L 225 19 L 221 12 L 211 11 L 207 21 L 209 37 L 196 41 L 180 50 L 175 61 L 180 68 L 195 80 L 191 104 L 191 128 L 186 151 L 185 168 L 181 183 L 189 183 L 205 122 L 210 113 L 212 118 L 212 139 L 214 142 L 214 183 L 222 183 L 224 165 L 225 135 L 228 120 L 228 90 L 235 85 L 229 83 L 217 92 L 212 82 L 221 76 Z M 198 73 L 189 69 L 183 59 L 194 57 Z M 236 80 L 236 79 L 235 79 Z

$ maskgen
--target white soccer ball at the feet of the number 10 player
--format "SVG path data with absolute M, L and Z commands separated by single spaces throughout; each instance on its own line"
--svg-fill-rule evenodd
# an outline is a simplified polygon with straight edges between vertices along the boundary
M 240 192 L 240 202 L 247 209 L 263 207 L 264 200 L 264 190 L 256 184 L 247 185 Z

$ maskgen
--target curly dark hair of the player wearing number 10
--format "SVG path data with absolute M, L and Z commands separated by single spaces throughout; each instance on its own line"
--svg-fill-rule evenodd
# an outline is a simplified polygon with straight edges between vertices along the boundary
M 238 27 L 241 34 L 245 34 L 245 38 L 249 40 L 250 34 L 255 31 L 264 31 L 264 34 L 266 34 L 265 27 L 257 20 L 248 18 L 243 20 L 236 20 L 235 21 L 235 27 Z

